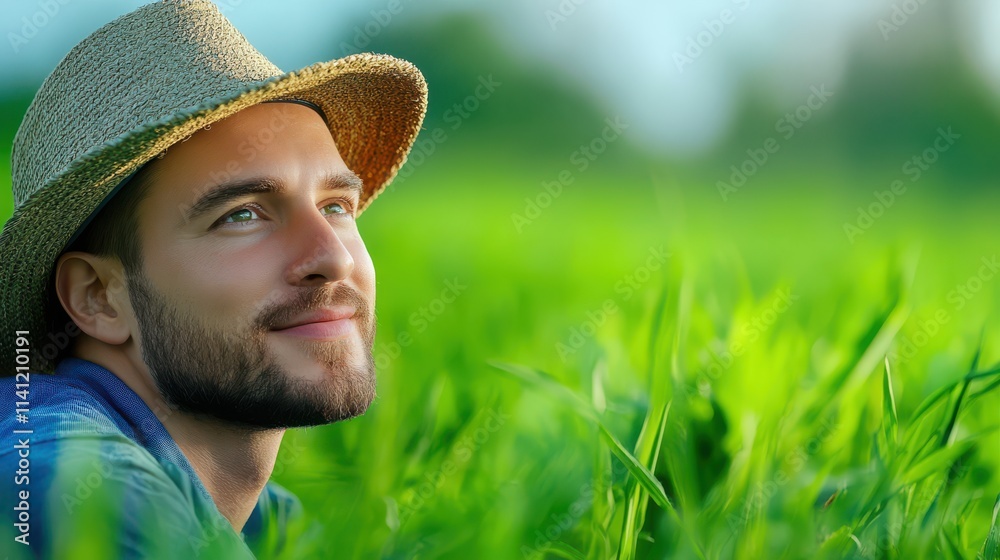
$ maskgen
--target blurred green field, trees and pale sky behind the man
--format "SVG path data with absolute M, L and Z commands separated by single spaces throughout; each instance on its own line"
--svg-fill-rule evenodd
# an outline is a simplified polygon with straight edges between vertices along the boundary
M 0 220 L 34 91 L 141 3 L 0 7 Z M 380 397 L 289 433 L 275 472 L 320 519 L 323 554 L 627 557 L 627 512 L 647 505 L 598 426 L 550 393 L 639 453 L 658 380 L 672 408 L 642 462 L 678 516 L 648 504 L 638 557 L 981 553 L 996 385 L 926 422 L 943 441 L 977 434 L 938 458 L 961 476 L 911 480 L 871 436 L 885 356 L 901 431 L 1000 361 L 1000 4 L 217 4 L 285 70 L 383 52 L 430 90 L 407 166 L 359 220 Z M 862 516 L 852 490 L 878 476 L 926 507 Z M 866 544 L 840 547 L 843 527 Z

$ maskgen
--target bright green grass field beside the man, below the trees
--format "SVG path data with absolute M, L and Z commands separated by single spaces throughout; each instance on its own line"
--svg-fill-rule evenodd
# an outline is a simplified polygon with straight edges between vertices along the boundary
M 290 433 L 276 476 L 321 548 L 997 558 L 1000 278 L 949 297 L 996 254 L 995 200 L 927 185 L 852 245 L 841 225 L 867 199 L 832 182 L 723 204 L 656 169 L 601 173 L 523 234 L 510 214 L 544 172 L 428 166 L 362 218 L 380 396 Z

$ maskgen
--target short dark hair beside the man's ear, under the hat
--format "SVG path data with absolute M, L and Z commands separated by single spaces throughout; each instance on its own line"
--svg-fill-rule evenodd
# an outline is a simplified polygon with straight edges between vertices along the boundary
M 138 213 L 139 204 L 149 193 L 155 175 L 151 163 L 148 162 L 139 168 L 136 174 L 121 186 L 76 241 L 63 253 L 82 251 L 99 257 L 115 257 L 121 262 L 123 269 L 129 272 L 138 272 L 142 268 Z M 70 336 L 65 338 L 60 336 L 60 334 L 68 335 L 67 330 L 71 328 L 72 320 L 56 295 L 54 269 L 49 279 L 46 305 L 45 316 L 48 320 L 48 332 L 54 335 L 52 340 L 68 340 L 65 345 L 57 345 L 58 353 L 52 362 L 53 365 L 57 365 L 69 356 L 76 341 Z M 77 332 L 76 329 L 73 332 Z

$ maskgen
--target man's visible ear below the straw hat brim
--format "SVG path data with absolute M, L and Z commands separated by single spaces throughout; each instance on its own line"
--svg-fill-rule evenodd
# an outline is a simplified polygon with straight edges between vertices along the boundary
M 69 318 L 89 336 L 123 344 L 131 336 L 131 307 L 118 259 L 71 251 L 59 257 L 56 295 Z

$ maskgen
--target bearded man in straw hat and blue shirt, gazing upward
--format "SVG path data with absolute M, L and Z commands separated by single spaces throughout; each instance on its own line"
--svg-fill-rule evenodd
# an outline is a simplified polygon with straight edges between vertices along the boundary
M 14 142 L 0 234 L 0 551 L 269 557 L 300 506 L 286 428 L 375 394 L 356 218 L 426 110 L 412 65 L 282 73 L 208 0 L 59 63 Z

